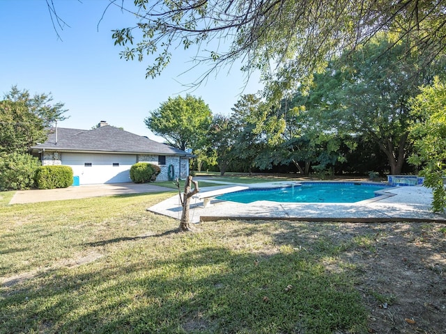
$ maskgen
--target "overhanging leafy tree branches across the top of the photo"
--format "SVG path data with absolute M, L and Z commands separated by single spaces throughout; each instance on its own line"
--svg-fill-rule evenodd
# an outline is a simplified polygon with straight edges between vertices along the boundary
M 197 47 L 195 60 L 211 64 L 201 80 L 241 60 L 248 75 L 261 70 L 276 100 L 331 56 L 354 50 L 378 32 L 391 33 L 394 44 L 411 40 L 408 47 L 422 50 L 427 63 L 446 45 L 444 1 L 139 0 L 134 5 L 125 10 L 137 24 L 116 29 L 112 38 L 124 47 L 121 58 L 153 56 L 146 77 L 160 74 L 178 45 Z

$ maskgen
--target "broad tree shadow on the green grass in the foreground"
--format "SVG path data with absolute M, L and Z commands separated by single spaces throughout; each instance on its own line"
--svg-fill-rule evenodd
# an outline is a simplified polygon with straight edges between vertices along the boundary
M 257 263 L 206 242 L 162 258 L 143 249 L 15 287 L 0 301 L 0 333 L 364 333 L 358 294 L 299 253 Z

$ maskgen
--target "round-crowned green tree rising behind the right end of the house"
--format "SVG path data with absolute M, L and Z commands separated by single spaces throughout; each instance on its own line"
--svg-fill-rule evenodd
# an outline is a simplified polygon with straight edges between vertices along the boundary
M 209 106 L 201 98 L 186 95 L 169 97 L 144 123 L 176 148 L 196 150 L 204 145 L 211 120 Z

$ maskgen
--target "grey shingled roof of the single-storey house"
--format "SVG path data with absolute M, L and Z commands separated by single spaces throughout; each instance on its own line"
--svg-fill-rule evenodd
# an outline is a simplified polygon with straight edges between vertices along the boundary
M 68 129 L 64 127 L 52 129 L 47 141 L 35 145 L 31 150 L 57 150 L 82 152 L 125 152 L 135 154 L 163 154 L 190 157 L 183 150 L 152 141 L 151 139 L 132 134 L 117 127 L 105 125 L 91 130 Z

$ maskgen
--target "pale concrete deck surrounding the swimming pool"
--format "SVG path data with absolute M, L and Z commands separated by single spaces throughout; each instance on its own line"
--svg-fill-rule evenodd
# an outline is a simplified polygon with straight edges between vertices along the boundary
M 214 181 L 213 181 L 214 182 Z M 223 183 L 223 182 L 222 182 Z M 226 184 L 203 187 L 206 191 L 228 186 L 250 188 L 283 186 L 298 182 L 269 182 L 261 184 Z M 386 189 L 385 195 L 355 203 L 279 203 L 261 200 L 248 204 L 213 199 L 203 207 L 203 200 L 191 198 L 190 220 L 216 221 L 220 219 L 291 219 L 299 221 L 438 221 L 446 223 L 445 214 L 431 212 L 432 191 L 424 186 L 397 186 Z M 173 196 L 153 207 L 150 212 L 180 219 L 182 207 L 179 196 Z

